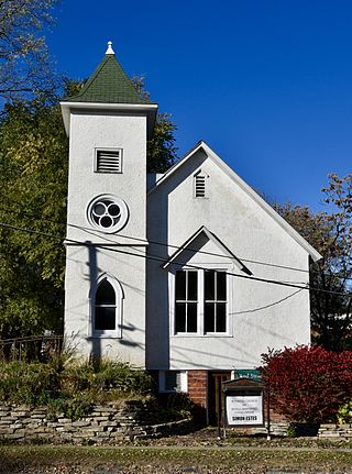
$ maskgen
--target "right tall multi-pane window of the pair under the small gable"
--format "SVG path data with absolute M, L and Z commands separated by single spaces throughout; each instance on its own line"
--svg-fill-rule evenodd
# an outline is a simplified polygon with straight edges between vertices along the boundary
M 205 332 L 227 331 L 227 274 L 205 272 Z

